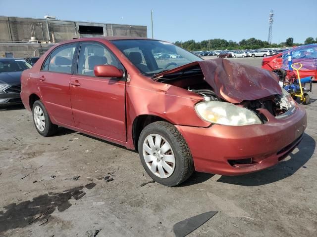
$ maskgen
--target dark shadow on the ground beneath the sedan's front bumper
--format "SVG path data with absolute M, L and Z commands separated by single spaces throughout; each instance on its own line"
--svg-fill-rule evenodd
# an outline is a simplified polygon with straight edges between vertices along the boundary
M 314 138 L 305 134 L 299 144 L 287 158 L 277 165 L 262 171 L 242 176 L 221 176 L 217 182 L 241 185 L 260 186 L 270 184 L 293 175 L 299 169 L 305 169 L 305 163 L 313 156 L 316 147 Z M 296 152 L 297 151 L 297 152 Z

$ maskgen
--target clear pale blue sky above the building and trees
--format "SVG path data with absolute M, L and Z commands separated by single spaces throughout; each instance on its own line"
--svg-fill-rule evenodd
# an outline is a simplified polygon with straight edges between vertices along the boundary
M 0 15 L 148 26 L 159 40 L 267 40 L 274 10 L 272 42 L 317 37 L 317 0 L 0 0 Z

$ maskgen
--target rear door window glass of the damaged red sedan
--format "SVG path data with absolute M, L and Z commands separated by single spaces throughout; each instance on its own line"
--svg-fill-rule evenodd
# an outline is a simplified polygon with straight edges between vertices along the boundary
M 74 57 L 76 49 L 76 44 L 62 46 L 60 48 L 55 49 L 50 58 L 49 63 L 48 59 L 45 61 L 43 65 L 43 70 L 48 65 L 47 71 L 57 72 L 57 73 L 71 73 L 71 65 Z

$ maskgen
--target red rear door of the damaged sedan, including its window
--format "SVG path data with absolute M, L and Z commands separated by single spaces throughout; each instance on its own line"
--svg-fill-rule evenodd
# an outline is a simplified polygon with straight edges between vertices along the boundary
M 76 43 L 62 45 L 46 58 L 38 74 L 38 87 L 50 116 L 58 123 L 74 126 L 69 82 L 73 71 Z

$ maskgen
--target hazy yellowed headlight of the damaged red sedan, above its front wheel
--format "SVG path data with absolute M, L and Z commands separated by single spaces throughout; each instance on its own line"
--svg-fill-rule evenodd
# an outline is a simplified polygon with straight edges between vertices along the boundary
M 196 104 L 196 113 L 205 121 L 231 126 L 261 124 L 260 118 L 251 110 L 219 101 Z

